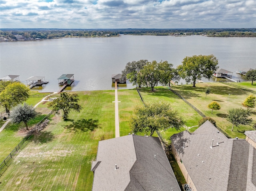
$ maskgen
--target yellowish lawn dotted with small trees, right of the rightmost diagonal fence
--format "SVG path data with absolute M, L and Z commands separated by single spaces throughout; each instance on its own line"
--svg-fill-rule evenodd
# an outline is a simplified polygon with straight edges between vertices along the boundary
M 240 83 L 239 83 L 240 84 Z M 211 93 L 205 98 L 206 87 L 211 88 Z M 253 119 L 250 125 L 240 125 L 239 127 L 234 127 L 234 131 L 231 131 L 232 124 L 226 120 L 228 116 L 228 110 L 232 108 L 244 108 L 242 102 L 252 93 L 225 85 L 222 83 L 198 83 L 196 87 L 192 85 L 179 85 L 172 86 L 172 89 L 180 93 L 188 102 L 193 104 L 206 116 L 209 116 L 216 120 L 216 124 L 220 127 L 228 136 L 235 138 L 245 138 L 244 131 L 253 130 L 252 124 L 256 123 L 256 110 L 252 109 L 253 114 L 250 116 Z M 229 95 L 230 94 L 230 95 Z M 216 101 L 220 104 L 220 110 L 212 110 L 208 108 L 208 104 Z

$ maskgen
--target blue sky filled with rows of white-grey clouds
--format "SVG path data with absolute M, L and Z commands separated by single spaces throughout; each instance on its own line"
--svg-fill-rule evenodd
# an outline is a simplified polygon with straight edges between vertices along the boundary
M 0 28 L 256 28 L 256 0 L 0 0 Z

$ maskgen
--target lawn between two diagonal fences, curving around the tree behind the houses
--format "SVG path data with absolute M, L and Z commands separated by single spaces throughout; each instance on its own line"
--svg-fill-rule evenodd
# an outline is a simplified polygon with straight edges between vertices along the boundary
M 145 102 L 169 102 L 175 110 L 184 118 L 187 127 L 197 126 L 198 121 L 202 118 L 193 108 L 188 106 L 182 99 L 172 93 L 167 87 L 155 87 L 152 92 L 150 88 L 140 89 L 140 94 Z M 184 127 L 180 130 L 169 128 L 162 130 L 160 133 L 166 142 L 170 142 L 170 136 L 186 130 Z

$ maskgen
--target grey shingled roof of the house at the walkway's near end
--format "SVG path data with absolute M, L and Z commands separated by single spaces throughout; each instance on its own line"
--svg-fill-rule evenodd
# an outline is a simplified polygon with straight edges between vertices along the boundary
M 93 191 L 180 191 L 156 137 L 128 135 L 100 141 L 92 170 Z

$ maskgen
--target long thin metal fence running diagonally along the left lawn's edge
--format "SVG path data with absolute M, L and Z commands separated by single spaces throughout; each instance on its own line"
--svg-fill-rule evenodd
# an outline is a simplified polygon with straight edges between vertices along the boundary
M 36 131 L 36 128 L 44 122 L 46 118 L 48 118 L 52 114 L 52 111 L 50 111 L 32 130 L 28 132 L 28 134 L 21 140 L 21 142 L 10 152 L 10 154 L 2 161 L 0 164 L 0 177 L 2 174 L 6 171 L 6 169 L 10 166 L 12 163 L 12 159 L 16 157 L 16 155 L 28 144 L 27 140 L 30 138 L 30 136 Z

